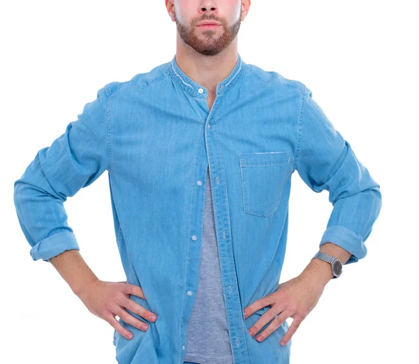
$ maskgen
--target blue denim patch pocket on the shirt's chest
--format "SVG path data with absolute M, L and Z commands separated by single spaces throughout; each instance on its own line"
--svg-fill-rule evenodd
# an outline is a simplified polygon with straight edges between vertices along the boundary
M 281 203 L 289 152 L 241 153 L 239 160 L 243 211 L 261 217 L 270 216 Z

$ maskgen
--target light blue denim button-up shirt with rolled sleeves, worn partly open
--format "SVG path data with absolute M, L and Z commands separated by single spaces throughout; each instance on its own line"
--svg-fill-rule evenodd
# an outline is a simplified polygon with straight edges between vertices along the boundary
M 127 340 L 116 330 L 119 364 L 182 364 L 186 325 L 200 269 L 205 175 L 210 168 L 216 238 L 230 347 L 235 364 L 288 364 L 288 329 L 257 342 L 248 329 L 270 309 L 244 308 L 276 291 L 286 252 L 291 175 L 297 170 L 333 205 L 319 247 L 332 242 L 355 263 L 381 210 L 379 184 L 302 82 L 237 64 L 209 91 L 176 56 L 131 80 L 110 82 L 78 119 L 38 151 L 14 184 L 14 201 L 32 259 L 80 249 L 64 202 L 108 171 L 115 238 L 126 282 L 158 316 Z M 317 251 L 317 249 L 316 249 Z M 316 253 L 314 251 L 314 254 Z M 267 323 L 261 330 L 264 330 Z

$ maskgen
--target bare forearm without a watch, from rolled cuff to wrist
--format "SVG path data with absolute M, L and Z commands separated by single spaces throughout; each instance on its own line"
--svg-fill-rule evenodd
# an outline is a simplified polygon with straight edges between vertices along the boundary
M 54 268 L 58 270 L 77 296 L 80 296 L 86 286 L 98 279 L 76 249 L 66 250 L 53 256 L 50 263 L 54 265 Z

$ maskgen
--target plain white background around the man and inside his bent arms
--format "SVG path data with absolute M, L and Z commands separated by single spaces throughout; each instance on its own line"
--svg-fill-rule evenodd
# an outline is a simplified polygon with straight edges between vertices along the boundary
M 293 336 L 293 364 L 417 360 L 415 2 L 253 1 L 242 22 L 242 59 L 307 85 L 383 194 L 367 256 L 326 285 Z M 1 8 L 0 362 L 115 364 L 113 328 L 51 264 L 31 259 L 13 182 L 99 88 L 170 61 L 176 26 L 163 0 L 15 1 Z M 90 268 L 100 279 L 125 280 L 107 172 L 65 207 Z M 331 211 L 328 192 L 315 194 L 294 173 L 280 282 L 300 274 L 317 252 Z

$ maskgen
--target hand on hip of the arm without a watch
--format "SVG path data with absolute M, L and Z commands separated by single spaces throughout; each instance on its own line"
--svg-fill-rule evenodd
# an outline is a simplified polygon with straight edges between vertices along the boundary
M 78 297 L 92 314 L 108 321 L 118 333 L 126 337 L 126 339 L 131 340 L 133 334 L 131 331 L 126 330 L 115 316 L 119 316 L 126 323 L 129 323 L 142 331 L 148 329 L 147 323 L 135 318 L 126 311 L 125 308 L 149 321 L 154 322 L 155 319 L 152 319 L 150 316 L 154 315 L 153 312 L 131 300 L 129 298 L 130 295 L 139 296 L 145 299 L 140 286 L 127 284 L 126 281 L 105 282 L 100 279 L 95 279 L 89 286 L 84 287 L 83 291 L 78 294 Z M 156 317 L 156 315 L 154 316 Z

